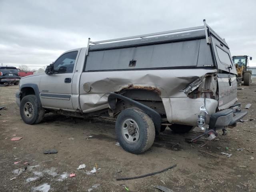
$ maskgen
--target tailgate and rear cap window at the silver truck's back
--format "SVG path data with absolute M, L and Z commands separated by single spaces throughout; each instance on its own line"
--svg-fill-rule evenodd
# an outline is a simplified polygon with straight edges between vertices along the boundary
M 218 68 L 218 108 L 222 110 L 232 106 L 237 100 L 237 72 L 228 47 L 213 36 L 212 45 Z

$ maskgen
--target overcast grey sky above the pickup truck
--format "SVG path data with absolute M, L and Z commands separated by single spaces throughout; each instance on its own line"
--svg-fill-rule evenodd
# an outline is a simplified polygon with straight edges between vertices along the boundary
M 0 63 L 38 69 L 92 41 L 203 25 L 256 66 L 255 0 L 0 0 Z

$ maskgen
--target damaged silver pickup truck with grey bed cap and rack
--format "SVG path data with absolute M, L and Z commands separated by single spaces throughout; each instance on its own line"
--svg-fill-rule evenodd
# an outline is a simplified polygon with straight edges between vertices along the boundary
M 16 100 L 26 124 L 41 122 L 46 111 L 116 118 L 120 145 L 139 154 L 166 124 L 177 133 L 205 130 L 192 142 L 235 126 L 246 115 L 236 103 L 236 74 L 228 44 L 204 20 L 181 30 L 89 38 L 87 48 L 65 52 L 45 74 L 23 77 Z

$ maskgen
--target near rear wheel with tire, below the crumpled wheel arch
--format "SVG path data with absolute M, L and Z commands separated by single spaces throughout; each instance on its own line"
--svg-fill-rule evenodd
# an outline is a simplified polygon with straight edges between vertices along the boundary
M 116 119 L 116 136 L 124 150 L 140 154 L 152 146 L 156 136 L 155 126 L 142 110 L 128 108 L 120 112 Z

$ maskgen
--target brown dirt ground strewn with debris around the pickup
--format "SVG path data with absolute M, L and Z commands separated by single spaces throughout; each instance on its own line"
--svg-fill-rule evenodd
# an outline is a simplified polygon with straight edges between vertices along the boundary
M 200 134 L 198 129 L 188 134 L 166 129 L 150 150 L 135 155 L 115 145 L 114 122 L 102 118 L 84 120 L 46 114 L 40 124 L 25 124 L 15 101 L 18 86 L 0 87 L 0 106 L 6 106 L 0 110 L 0 191 L 158 192 L 153 186 L 161 185 L 174 192 L 255 192 L 256 84 L 240 88 L 243 90 L 238 90 L 238 102 L 243 107 L 247 103 L 252 106 L 243 123 L 228 128 L 228 135 L 222 136 L 220 130 L 216 140 L 200 147 L 205 139 L 195 144 L 186 142 Z M 22 139 L 11 141 L 14 134 Z M 49 149 L 58 153 L 43 154 Z M 80 164 L 86 167 L 77 170 Z M 116 181 L 174 164 L 175 168 L 154 176 Z M 90 173 L 96 165 L 100 169 Z M 70 173 L 76 176 L 69 177 Z

